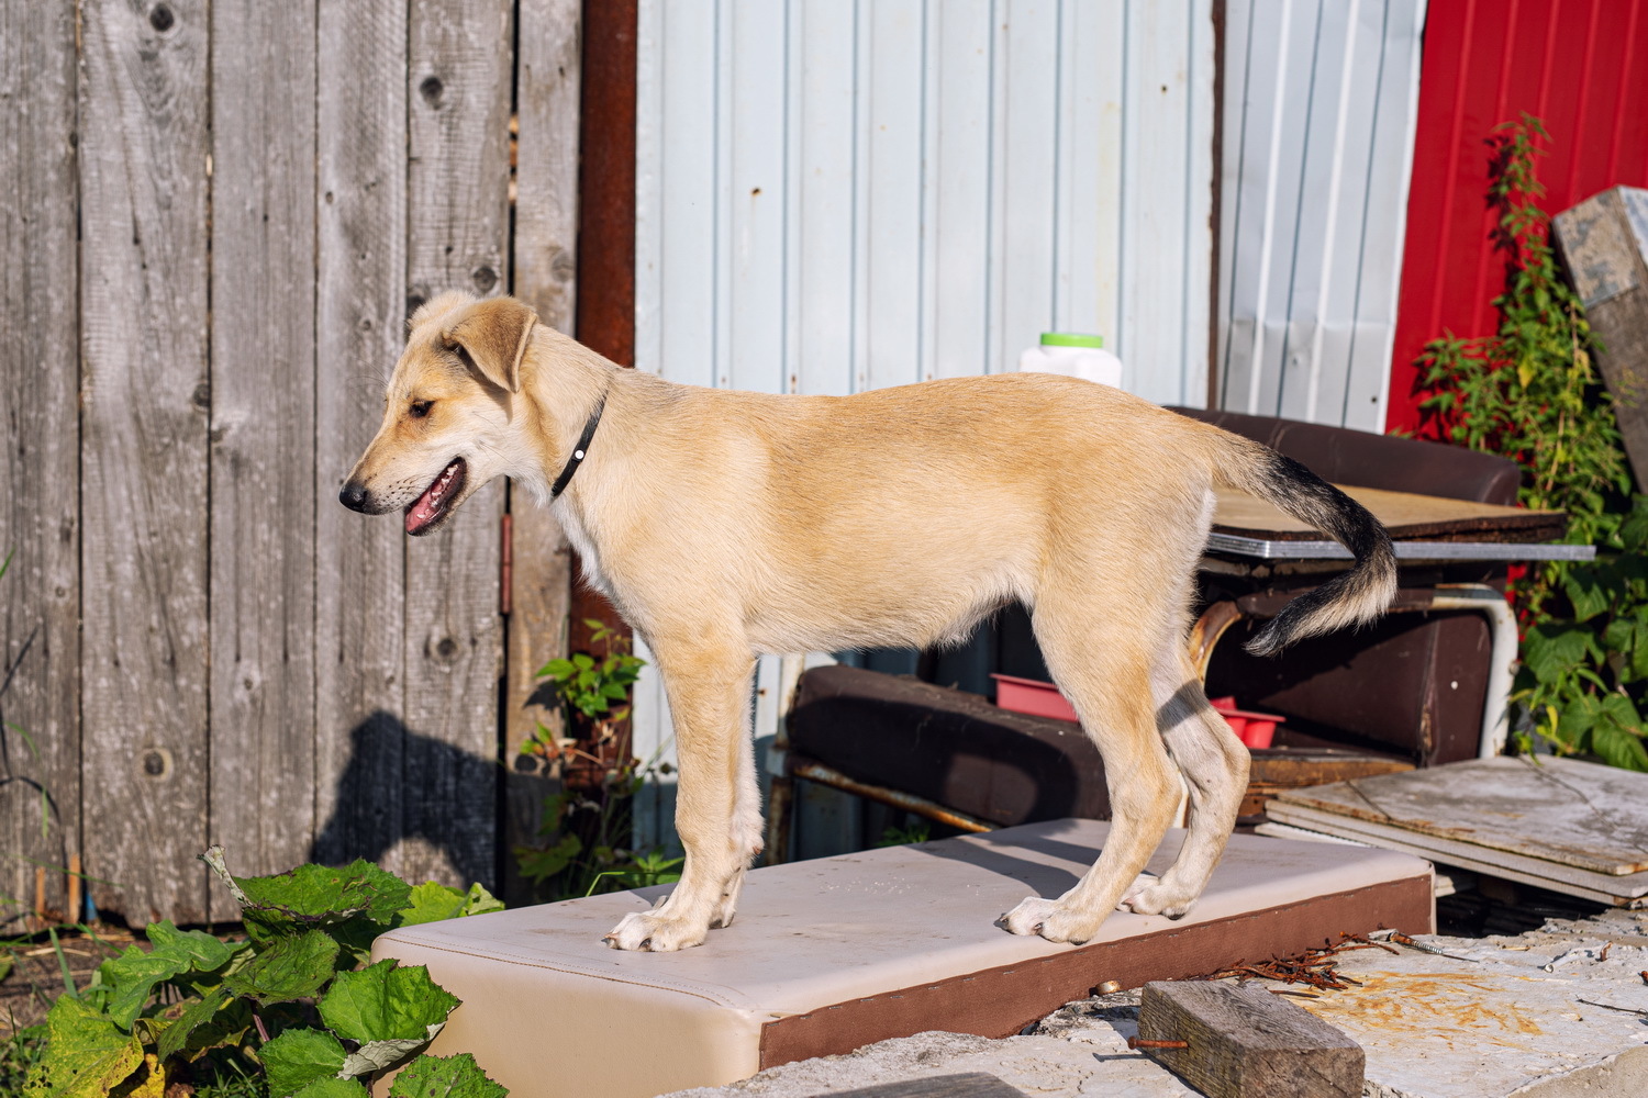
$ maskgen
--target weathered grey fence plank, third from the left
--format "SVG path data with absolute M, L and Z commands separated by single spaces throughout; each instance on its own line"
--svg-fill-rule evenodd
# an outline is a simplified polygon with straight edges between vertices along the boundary
M 315 838 L 315 0 L 219 0 L 211 102 L 209 831 L 267 874 Z

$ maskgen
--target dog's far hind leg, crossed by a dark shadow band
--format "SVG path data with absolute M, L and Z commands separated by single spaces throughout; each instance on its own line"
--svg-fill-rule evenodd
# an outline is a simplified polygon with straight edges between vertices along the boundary
M 1183 642 L 1175 640 L 1157 662 L 1150 686 L 1162 741 L 1190 785 L 1190 831 L 1162 879 L 1140 879 L 1119 907 L 1140 915 L 1177 917 L 1201 896 L 1224 853 L 1248 790 L 1249 754 L 1208 705 Z

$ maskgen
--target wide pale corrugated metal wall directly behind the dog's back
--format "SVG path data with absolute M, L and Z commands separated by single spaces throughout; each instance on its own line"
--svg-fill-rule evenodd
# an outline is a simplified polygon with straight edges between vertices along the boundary
M 850 393 L 1094 331 L 1127 388 L 1205 405 L 1211 7 L 641 0 L 636 364 Z M 634 728 L 669 757 L 656 680 Z

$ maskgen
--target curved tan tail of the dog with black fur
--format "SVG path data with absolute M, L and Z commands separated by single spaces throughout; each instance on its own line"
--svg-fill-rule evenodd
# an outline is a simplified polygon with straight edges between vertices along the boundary
M 1383 614 L 1396 598 L 1396 550 L 1379 520 L 1292 458 L 1234 435 L 1226 435 L 1224 441 L 1223 454 L 1213 463 L 1221 482 L 1322 530 L 1356 558 L 1350 571 L 1284 606 L 1244 645 L 1248 652 L 1272 655 L 1304 637 L 1360 626 Z

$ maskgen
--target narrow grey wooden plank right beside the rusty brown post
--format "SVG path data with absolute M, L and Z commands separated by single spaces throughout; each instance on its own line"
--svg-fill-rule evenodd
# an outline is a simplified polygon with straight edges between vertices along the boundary
M 577 303 L 578 237 L 578 0 L 524 0 L 516 40 L 516 216 L 514 295 L 537 309 L 544 324 L 572 333 Z M 555 724 L 554 706 L 532 700 L 536 672 L 567 652 L 572 550 L 531 494 L 511 487 L 511 583 L 504 691 L 503 889 L 524 897 L 526 886 L 508 853 L 531 841 L 549 792 L 534 774 L 514 769 L 522 742 L 539 721 Z

